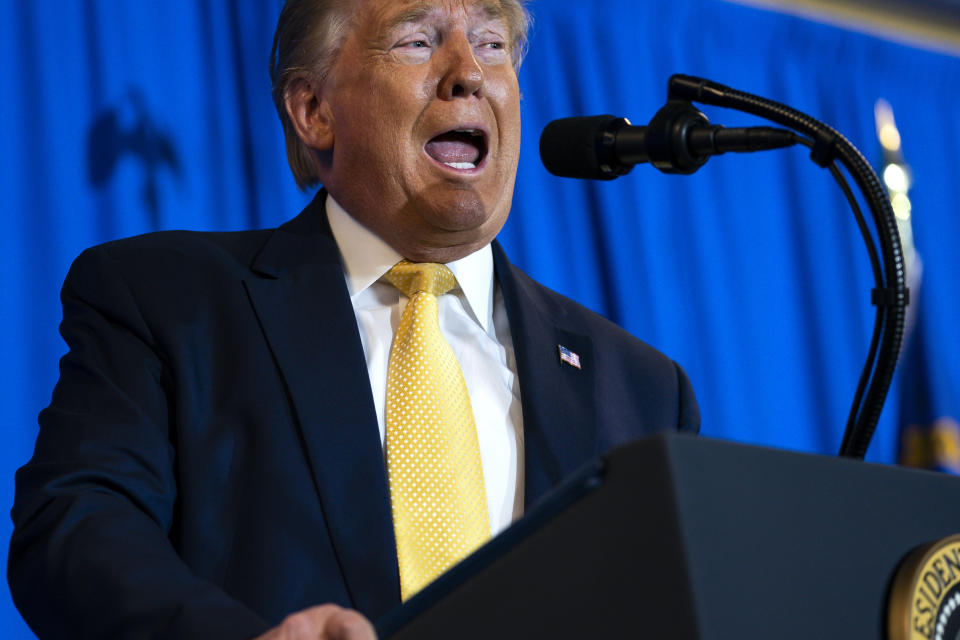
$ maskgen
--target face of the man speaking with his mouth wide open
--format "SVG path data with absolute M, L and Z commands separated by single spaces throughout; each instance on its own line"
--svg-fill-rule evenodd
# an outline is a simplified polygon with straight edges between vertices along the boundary
M 357 0 L 321 90 L 321 180 L 406 258 L 448 262 L 506 221 L 520 91 L 499 0 Z

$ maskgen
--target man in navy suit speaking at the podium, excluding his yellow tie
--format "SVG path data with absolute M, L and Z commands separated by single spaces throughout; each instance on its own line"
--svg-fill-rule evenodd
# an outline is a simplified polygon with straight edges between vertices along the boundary
M 486 535 L 611 446 L 697 429 L 679 367 L 494 242 L 525 25 L 515 0 L 290 0 L 274 94 L 298 182 L 325 190 L 277 230 L 78 258 L 13 510 L 9 578 L 39 636 L 372 637 L 364 616 L 405 584 L 384 452 L 419 295 L 383 280 L 402 259 L 455 278 L 435 297 Z

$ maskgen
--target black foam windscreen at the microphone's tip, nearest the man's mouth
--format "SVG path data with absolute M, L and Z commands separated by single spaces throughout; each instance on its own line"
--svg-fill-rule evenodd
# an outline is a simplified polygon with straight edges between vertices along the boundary
M 554 120 L 540 135 L 540 160 L 547 171 L 562 178 L 610 180 L 609 168 L 601 161 L 605 134 L 619 127 L 611 125 L 623 118 L 588 116 Z

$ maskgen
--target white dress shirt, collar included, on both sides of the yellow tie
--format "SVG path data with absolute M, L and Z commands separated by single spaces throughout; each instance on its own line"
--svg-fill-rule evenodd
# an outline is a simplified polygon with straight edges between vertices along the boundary
M 383 446 L 390 346 L 409 299 L 380 278 L 403 256 L 354 220 L 332 196 L 327 196 L 326 204 L 357 316 Z M 510 323 L 494 279 L 490 245 L 447 266 L 458 286 L 439 297 L 440 331 L 460 363 L 470 393 L 490 530 L 496 535 L 523 512 L 523 415 Z

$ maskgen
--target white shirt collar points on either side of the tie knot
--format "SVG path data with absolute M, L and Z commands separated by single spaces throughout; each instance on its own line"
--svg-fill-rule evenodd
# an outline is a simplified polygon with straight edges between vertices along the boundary
M 327 194 L 326 206 L 352 300 L 403 260 L 403 256 L 357 222 L 330 194 Z M 490 245 L 447 263 L 447 267 L 456 276 L 474 319 L 489 332 L 493 322 L 493 252 Z

